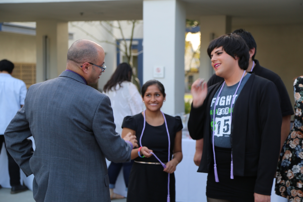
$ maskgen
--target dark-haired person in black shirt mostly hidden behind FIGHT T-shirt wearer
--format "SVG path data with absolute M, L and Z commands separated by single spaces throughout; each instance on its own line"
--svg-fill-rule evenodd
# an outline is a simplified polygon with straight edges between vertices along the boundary
M 266 78 L 276 85 L 278 88 L 279 97 L 281 100 L 280 108 L 282 112 L 282 126 L 281 126 L 281 147 L 284 144 L 286 137 L 288 136 L 290 130 L 290 118 L 291 115 L 294 114 L 292 109 L 292 104 L 286 90 L 286 87 L 282 81 L 282 79 L 273 71 L 262 67 L 259 64 L 258 60 L 255 60 L 255 55 L 257 53 L 257 44 L 254 37 L 251 35 L 250 32 L 245 31 L 244 29 L 237 29 L 233 31 L 233 33 L 240 35 L 249 48 L 249 65 L 247 68 L 247 72 L 253 71 L 255 75 L 261 76 Z M 223 81 L 224 78 L 214 74 L 207 82 L 207 86 L 212 86 L 220 81 Z M 194 157 L 194 162 L 197 166 L 200 165 L 201 157 L 202 157 L 202 150 L 203 150 L 203 139 L 196 141 L 196 153 Z

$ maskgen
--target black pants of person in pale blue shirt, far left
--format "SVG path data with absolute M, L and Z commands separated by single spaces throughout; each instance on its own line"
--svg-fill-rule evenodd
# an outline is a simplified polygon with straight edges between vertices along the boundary
M 4 135 L 0 135 L 0 152 L 2 149 L 3 142 L 4 142 L 4 147 L 6 150 Z M 8 153 L 7 150 L 6 150 L 6 154 L 8 156 L 8 172 L 9 172 L 9 178 L 10 178 L 9 182 L 10 182 L 11 186 L 20 185 L 20 168 L 19 168 L 18 164 L 15 162 L 15 160 L 13 159 L 13 157 Z

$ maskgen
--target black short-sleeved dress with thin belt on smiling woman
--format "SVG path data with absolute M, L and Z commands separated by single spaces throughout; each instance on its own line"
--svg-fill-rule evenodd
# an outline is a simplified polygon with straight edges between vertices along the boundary
M 165 114 L 168 132 L 170 136 L 170 159 L 175 143 L 176 133 L 182 130 L 182 121 L 179 116 L 172 117 Z M 122 128 L 130 128 L 136 131 L 138 145 L 143 130 L 144 118 L 142 113 L 124 118 Z M 168 162 L 168 135 L 165 123 L 161 126 L 151 126 L 145 123 L 142 136 L 142 146 L 151 149 L 163 162 Z M 155 156 L 149 158 L 135 158 L 135 161 L 159 162 Z M 167 201 L 168 173 L 163 171 L 162 165 L 134 163 L 129 176 L 127 202 L 166 202 Z M 175 175 L 170 174 L 170 201 L 175 202 Z

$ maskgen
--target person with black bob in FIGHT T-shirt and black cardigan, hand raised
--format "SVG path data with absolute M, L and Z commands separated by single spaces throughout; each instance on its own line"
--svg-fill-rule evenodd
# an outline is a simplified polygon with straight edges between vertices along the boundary
M 237 34 L 223 35 L 214 39 L 207 52 L 216 75 L 224 78 L 224 81 L 207 87 L 206 83 L 202 84 L 203 80 L 198 79 L 191 86 L 193 102 L 188 131 L 192 139 L 204 139 L 198 172 L 208 173 L 206 187 L 208 202 L 270 202 L 280 151 L 282 124 L 280 98 L 272 81 L 259 77 L 253 72 L 245 72 L 248 68 L 248 51 L 245 41 Z M 246 83 L 240 87 L 242 79 Z M 230 137 L 227 135 L 230 138 L 230 147 L 216 147 L 214 141 L 213 149 L 212 112 L 214 110 L 211 109 L 213 105 L 218 105 L 214 102 L 215 98 L 218 98 L 218 91 L 220 89 L 224 91 L 232 86 L 238 86 L 241 90 L 239 94 L 235 94 L 234 97 L 237 99 L 234 103 L 231 101 L 234 105 L 229 108 L 229 112 L 232 113 Z M 216 108 L 218 107 L 219 105 Z M 217 112 L 216 110 L 216 116 Z M 216 127 L 219 130 L 220 126 L 216 125 Z M 215 168 L 214 160 L 217 160 Z M 216 169 L 218 169 L 219 182 L 215 182 Z

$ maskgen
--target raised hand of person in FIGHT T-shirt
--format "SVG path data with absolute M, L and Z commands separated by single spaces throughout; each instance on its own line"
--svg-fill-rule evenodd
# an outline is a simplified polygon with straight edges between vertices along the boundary
M 192 85 L 191 85 L 191 94 L 192 94 L 192 106 L 194 108 L 200 107 L 207 95 L 207 83 L 205 82 L 203 84 L 202 88 L 202 83 L 204 79 L 198 78 Z

